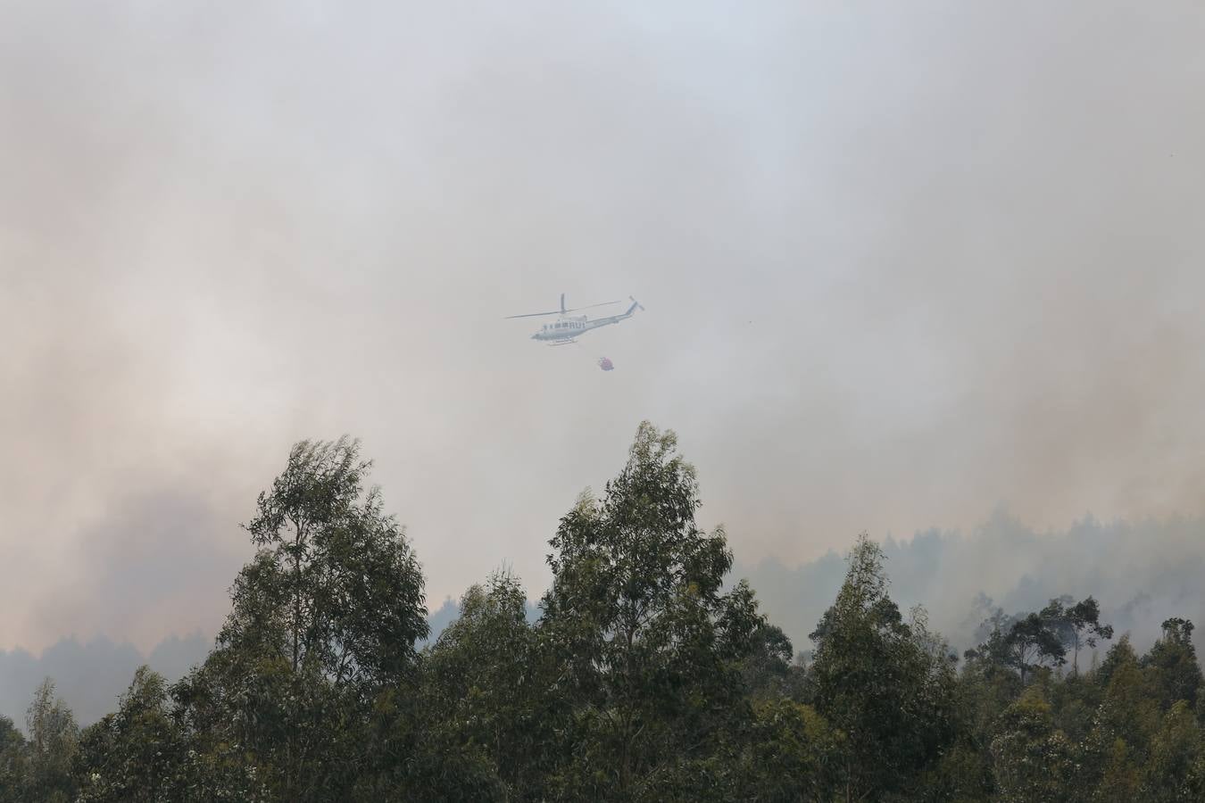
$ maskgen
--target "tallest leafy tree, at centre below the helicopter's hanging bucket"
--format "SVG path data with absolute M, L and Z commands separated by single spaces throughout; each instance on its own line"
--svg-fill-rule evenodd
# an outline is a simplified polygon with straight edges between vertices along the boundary
M 602 498 L 583 495 L 551 541 L 540 633 L 566 798 L 723 793 L 718 756 L 746 710 L 739 662 L 762 618 L 747 585 L 723 591 L 733 556 L 723 531 L 695 524 L 698 482 L 676 447 L 642 423 Z

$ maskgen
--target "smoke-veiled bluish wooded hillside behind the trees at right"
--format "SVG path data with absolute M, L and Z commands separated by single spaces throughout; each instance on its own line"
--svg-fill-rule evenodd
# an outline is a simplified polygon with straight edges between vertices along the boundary
M 1101 620 L 1136 648 L 1159 636 L 1169 616 L 1205 622 L 1205 520 L 1171 518 L 1101 522 L 1092 516 L 1060 532 L 1036 532 L 998 510 L 970 533 L 930 530 L 883 539 L 893 598 L 923 604 L 930 624 L 960 653 L 994 608 L 1035 610 L 1062 595 L 1094 596 Z M 775 560 L 737 565 L 771 621 L 809 646 L 845 573 L 836 553 L 798 567 Z M 1198 638 L 1199 640 L 1199 638 Z

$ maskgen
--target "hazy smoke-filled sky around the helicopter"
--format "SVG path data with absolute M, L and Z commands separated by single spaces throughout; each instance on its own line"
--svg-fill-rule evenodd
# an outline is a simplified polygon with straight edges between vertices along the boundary
M 1205 508 L 1197 0 L 0 14 L 0 648 L 212 632 L 345 432 L 433 607 L 645 418 L 750 563 Z

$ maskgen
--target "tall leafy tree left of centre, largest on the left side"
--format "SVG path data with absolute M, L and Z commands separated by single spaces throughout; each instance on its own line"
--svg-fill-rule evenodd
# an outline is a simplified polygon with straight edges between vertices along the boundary
M 378 693 L 412 681 L 428 632 L 418 562 L 370 467 L 358 441 L 293 448 L 246 525 L 259 549 L 217 649 L 177 687 L 193 732 L 242 745 L 287 801 L 347 798 L 366 772 L 358 730 Z

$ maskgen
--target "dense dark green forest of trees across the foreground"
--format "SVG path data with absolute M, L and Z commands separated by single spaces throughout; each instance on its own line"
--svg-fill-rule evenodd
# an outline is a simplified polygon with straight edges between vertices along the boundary
M 954 655 L 863 536 L 799 659 L 646 423 L 562 518 L 535 620 L 498 572 L 419 649 L 422 569 L 370 467 L 294 447 L 206 660 L 140 669 L 82 730 L 47 679 L 24 732 L 0 718 L 0 802 L 1205 801 L 1188 620 L 1139 655 L 1059 597 Z

